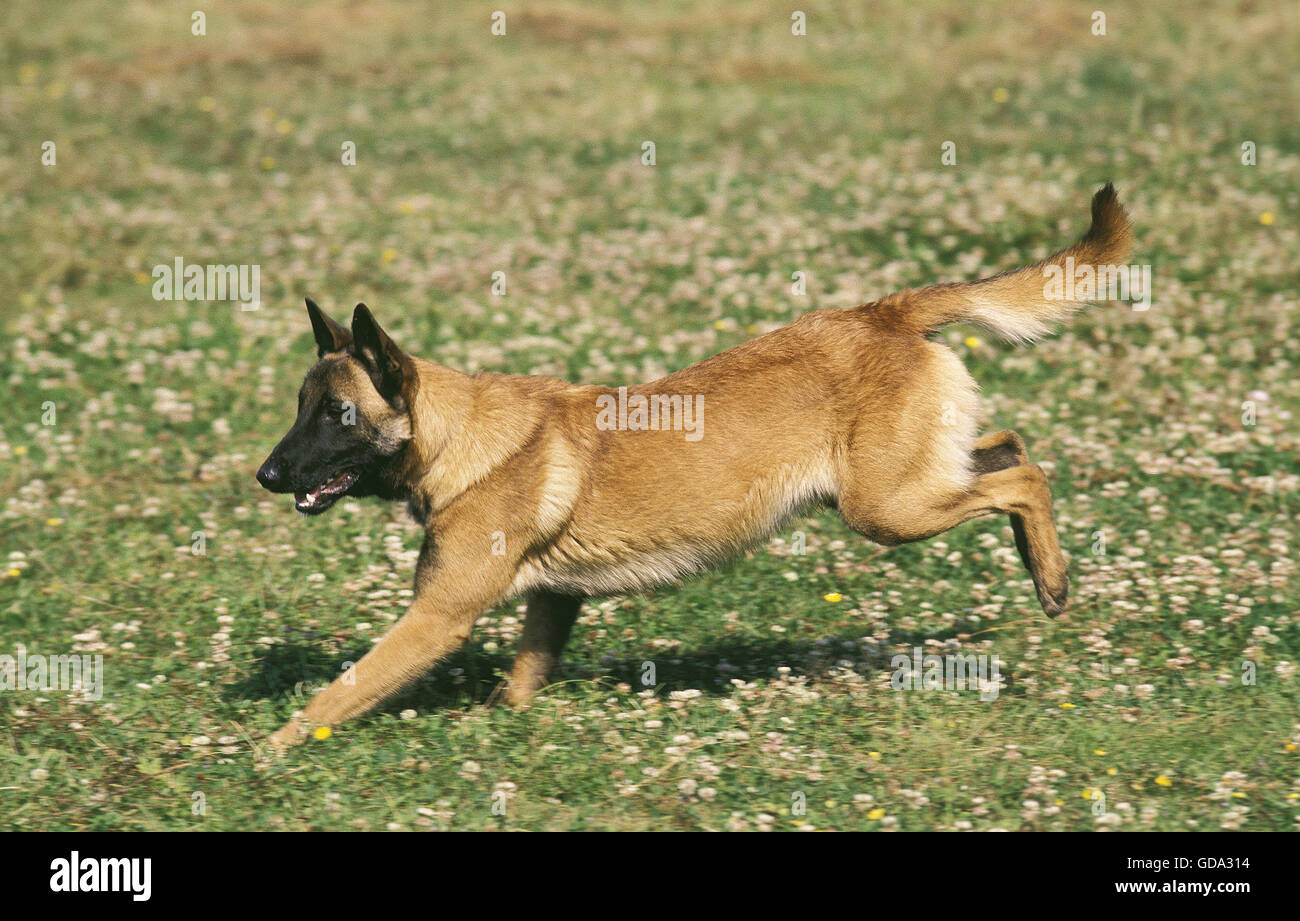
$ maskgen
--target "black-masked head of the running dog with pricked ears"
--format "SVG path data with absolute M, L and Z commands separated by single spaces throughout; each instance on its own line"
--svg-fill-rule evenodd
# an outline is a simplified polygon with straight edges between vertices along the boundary
M 339 497 L 390 496 L 389 471 L 411 441 L 416 369 L 358 304 L 348 329 L 311 299 L 318 362 L 298 392 L 298 419 L 257 471 L 273 493 L 292 493 L 304 515 Z

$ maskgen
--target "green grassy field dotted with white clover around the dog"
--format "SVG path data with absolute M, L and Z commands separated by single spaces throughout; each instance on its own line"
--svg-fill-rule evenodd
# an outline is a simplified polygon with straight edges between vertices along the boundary
M 239 0 L 194 35 L 194 4 L 6 5 L 0 654 L 101 654 L 104 687 L 0 691 L 0 827 L 1300 827 L 1296 5 L 1126 4 L 1105 35 L 1058 0 L 814 1 L 798 36 L 757 3 L 525 1 L 502 36 L 494 9 Z M 1037 259 L 1105 180 L 1150 310 L 944 333 L 1052 477 L 1062 618 L 1002 519 L 884 550 L 816 514 L 589 602 L 526 712 L 490 704 L 511 600 L 259 764 L 420 541 L 254 480 L 303 295 L 464 371 L 618 385 Z M 260 265 L 260 308 L 156 300 L 177 256 Z M 1005 687 L 896 691 L 915 647 Z

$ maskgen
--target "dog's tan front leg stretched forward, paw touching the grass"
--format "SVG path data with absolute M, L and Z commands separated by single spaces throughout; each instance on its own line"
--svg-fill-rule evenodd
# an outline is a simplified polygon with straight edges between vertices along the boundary
M 476 553 L 472 544 L 439 537 L 434 549 L 426 539 L 416 565 L 415 601 L 406 614 L 356 666 L 277 730 L 268 739 L 272 748 L 283 751 L 313 728 L 374 709 L 459 649 L 478 615 L 504 597 L 515 568 L 508 557 Z

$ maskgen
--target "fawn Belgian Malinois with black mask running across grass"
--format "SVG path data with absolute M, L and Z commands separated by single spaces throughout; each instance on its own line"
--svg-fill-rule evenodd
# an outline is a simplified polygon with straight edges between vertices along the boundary
M 1041 336 L 1082 303 L 1049 294 L 1049 271 L 1122 264 L 1131 239 L 1106 183 L 1088 233 L 1041 263 L 818 310 L 618 390 L 464 375 L 408 355 L 364 304 L 348 329 L 308 300 L 320 360 L 257 480 L 304 515 L 344 494 L 406 501 L 426 537 L 410 609 L 272 744 L 377 706 L 516 593 L 528 614 L 506 696 L 521 704 L 585 597 L 703 570 L 815 505 L 884 545 L 1009 515 L 1043 610 L 1060 614 L 1069 581 L 1046 476 L 1014 432 L 976 434 L 975 381 L 928 336 L 961 320 Z

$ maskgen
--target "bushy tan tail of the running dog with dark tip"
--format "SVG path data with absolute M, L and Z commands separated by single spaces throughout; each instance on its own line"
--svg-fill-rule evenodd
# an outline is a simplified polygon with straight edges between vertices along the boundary
M 1008 340 L 1035 340 L 1088 300 L 1105 300 L 1105 267 L 1122 267 L 1131 246 L 1132 222 L 1108 182 L 1092 196 L 1088 233 L 1054 256 L 991 278 L 898 291 L 874 306 L 922 333 L 968 320 Z M 1071 297 L 1082 267 L 1091 267 L 1102 284 L 1080 285 Z

